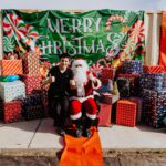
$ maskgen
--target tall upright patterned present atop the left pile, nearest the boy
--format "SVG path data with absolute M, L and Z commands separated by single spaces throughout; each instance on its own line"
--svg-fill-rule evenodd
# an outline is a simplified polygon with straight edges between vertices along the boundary
M 40 74 L 39 54 L 29 52 L 21 55 L 23 62 L 23 73 L 30 75 Z

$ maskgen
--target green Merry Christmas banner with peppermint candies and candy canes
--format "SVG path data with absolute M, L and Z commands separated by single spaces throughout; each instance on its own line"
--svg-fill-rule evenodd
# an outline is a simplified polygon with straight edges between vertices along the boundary
M 3 10 L 3 51 L 41 53 L 41 61 L 58 61 L 62 53 L 82 56 L 90 65 L 106 59 L 115 66 L 125 59 L 144 60 L 144 12 L 55 10 L 24 13 Z

